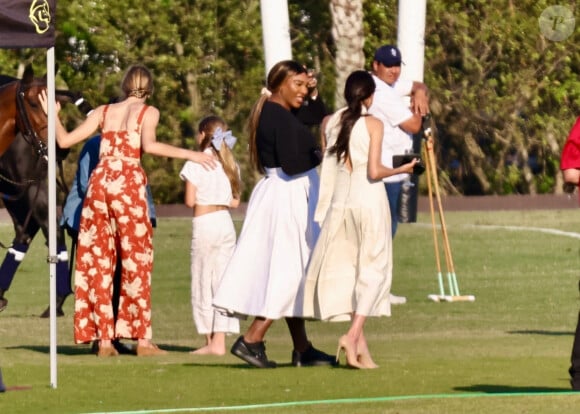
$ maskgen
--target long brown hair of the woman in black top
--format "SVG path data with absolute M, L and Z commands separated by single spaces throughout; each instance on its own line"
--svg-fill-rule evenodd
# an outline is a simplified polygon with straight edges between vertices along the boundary
M 250 161 L 256 170 L 264 173 L 264 166 L 260 162 L 258 156 L 258 148 L 256 146 L 256 131 L 258 129 L 258 122 L 260 121 L 260 114 L 264 107 L 264 102 L 270 97 L 269 94 L 277 92 L 280 86 L 288 78 L 288 76 L 306 73 L 306 68 L 294 60 L 283 60 L 276 63 L 268 72 L 267 91 L 263 91 L 260 98 L 256 101 L 248 119 L 248 133 L 249 133 L 249 147 L 250 147 Z

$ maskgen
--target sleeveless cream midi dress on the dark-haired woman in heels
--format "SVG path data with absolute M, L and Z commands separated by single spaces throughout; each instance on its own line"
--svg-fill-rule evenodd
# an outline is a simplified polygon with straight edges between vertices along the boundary
M 342 111 L 326 128 L 336 142 Z M 392 279 L 390 212 L 382 181 L 367 177 L 370 136 L 365 117 L 355 123 L 349 151 L 352 173 L 336 154 L 325 154 L 315 220 L 322 222 L 304 287 L 304 316 L 349 320 L 352 313 L 390 316 Z

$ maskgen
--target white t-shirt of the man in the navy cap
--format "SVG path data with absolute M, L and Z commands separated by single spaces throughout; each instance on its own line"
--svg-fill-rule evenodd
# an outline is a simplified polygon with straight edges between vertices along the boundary
M 411 93 L 412 81 L 397 81 L 389 86 L 373 75 L 377 86 L 373 103 L 369 113 L 383 121 L 383 146 L 381 153 L 382 164 L 393 167 L 393 155 L 401 155 L 413 148 L 413 137 L 399 128 L 399 124 L 413 116 L 413 112 L 403 100 L 403 96 Z M 385 182 L 397 182 L 404 180 L 408 174 L 397 174 L 384 178 Z

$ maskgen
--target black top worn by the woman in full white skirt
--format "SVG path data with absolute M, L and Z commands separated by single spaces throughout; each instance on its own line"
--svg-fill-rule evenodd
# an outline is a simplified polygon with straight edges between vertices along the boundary
M 288 175 L 301 174 L 320 164 L 320 148 L 310 129 L 274 102 L 264 102 L 256 146 L 264 167 L 280 167 Z

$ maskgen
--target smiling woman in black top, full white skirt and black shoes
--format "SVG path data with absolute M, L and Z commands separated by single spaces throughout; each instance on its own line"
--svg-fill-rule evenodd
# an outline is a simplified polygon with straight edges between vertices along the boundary
M 305 269 L 316 243 L 320 148 L 294 115 L 308 95 L 306 69 L 278 62 L 248 123 L 250 157 L 264 177 L 256 184 L 234 254 L 214 296 L 214 306 L 240 317 L 254 316 L 231 352 L 250 365 L 273 368 L 264 336 L 286 318 L 292 364 L 329 365 L 334 358 L 308 341 L 302 319 Z

